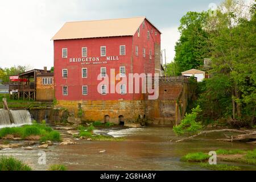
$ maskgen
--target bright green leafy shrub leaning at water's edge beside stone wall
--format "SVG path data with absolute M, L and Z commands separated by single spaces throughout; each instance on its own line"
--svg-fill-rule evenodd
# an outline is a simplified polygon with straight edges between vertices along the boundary
M 174 132 L 177 135 L 182 135 L 184 133 L 197 133 L 197 131 L 201 130 L 203 126 L 201 125 L 201 122 L 197 122 L 196 118 L 197 115 L 201 112 L 200 106 L 197 106 L 196 108 L 192 109 L 192 113 L 185 114 L 184 119 L 182 119 L 180 125 L 174 126 Z

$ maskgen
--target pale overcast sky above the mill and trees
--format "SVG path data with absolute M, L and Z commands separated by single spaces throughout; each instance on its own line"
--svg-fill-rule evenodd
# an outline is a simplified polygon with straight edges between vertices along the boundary
M 1 0 L 0 67 L 53 66 L 51 38 L 65 22 L 146 16 L 162 32 L 167 61 L 174 59 L 180 18 L 220 0 Z

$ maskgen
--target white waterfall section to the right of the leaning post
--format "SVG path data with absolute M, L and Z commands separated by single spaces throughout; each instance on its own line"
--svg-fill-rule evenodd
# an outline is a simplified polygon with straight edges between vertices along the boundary
M 30 124 L 31 115 L 27 110 L 10 110 L 15 125 Z

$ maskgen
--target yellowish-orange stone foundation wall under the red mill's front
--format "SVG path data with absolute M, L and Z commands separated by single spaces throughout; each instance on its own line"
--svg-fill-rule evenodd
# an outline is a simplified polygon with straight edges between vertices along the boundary
M 79 104 L 85 121 L 104 121 L 109 115 L 110 122 L 119 124 L 122 115 L 125 123 L 135 123 L 145 113 L 144 101 L 57 101 L 57 107 L 67 108 L 73 117 L 79 117 Z

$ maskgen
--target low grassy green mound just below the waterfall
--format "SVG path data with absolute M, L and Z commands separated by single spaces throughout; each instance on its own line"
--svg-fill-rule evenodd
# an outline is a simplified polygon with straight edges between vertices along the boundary
M 6 127 L 0 130 L 0 138 L 6 135 L 14 135 L 14 137 L 20 137 L 26 139 L 32 135 L 38 135 L 41 137 L 41 141 L 51 140 L 53 142 L 59 142 L 61 140 L 60 133 L 54 131 L 51 127 L 44 124 L 33 123 L 32 125 L 24 125 L 22 127 Z

